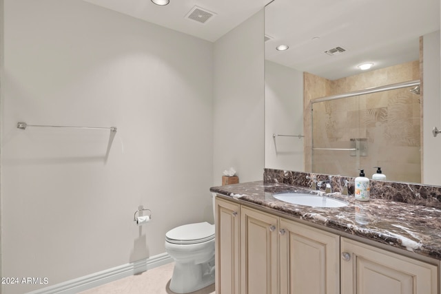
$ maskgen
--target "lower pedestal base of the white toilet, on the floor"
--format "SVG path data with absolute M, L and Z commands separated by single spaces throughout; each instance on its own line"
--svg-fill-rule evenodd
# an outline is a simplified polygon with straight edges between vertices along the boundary
M 209 262 L 175 262 L 170 290 L 174 293 L 190 293 L 214 283 L 214 258 Z

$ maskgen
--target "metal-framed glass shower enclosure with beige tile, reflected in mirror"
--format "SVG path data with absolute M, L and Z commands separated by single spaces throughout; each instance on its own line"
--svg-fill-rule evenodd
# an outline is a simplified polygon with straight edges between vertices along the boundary
M 420 81 L 311 101 L 312 171 L 421 182 Z

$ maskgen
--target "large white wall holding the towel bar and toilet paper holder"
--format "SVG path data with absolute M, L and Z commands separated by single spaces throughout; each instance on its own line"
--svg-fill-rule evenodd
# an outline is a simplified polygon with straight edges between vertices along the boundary
M 78 0 L 4 14 L 2 276 L 49 280 L 4 293 L 164 253 L 167 230 L 212 219 L 212 43 Z M 19 121 L 118 132 L 106 156 L 108 131 Z

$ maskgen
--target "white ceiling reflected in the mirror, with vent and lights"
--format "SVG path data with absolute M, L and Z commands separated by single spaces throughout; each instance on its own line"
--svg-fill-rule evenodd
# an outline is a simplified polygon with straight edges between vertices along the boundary
M 275 0 L 265 8 L 267 60 L 330 80 L 419 59 L 419 37 L 440 29 L 440 0 Z M 313 39 L 317 37 L 316 39 Z M 280 52 L 276 46 L 289 45 Z M 329 56 L 325 51 L 346 52 Z

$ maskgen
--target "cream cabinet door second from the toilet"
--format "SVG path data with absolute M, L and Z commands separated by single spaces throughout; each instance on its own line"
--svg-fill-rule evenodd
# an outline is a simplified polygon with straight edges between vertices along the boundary
M 278 217 L 240 210 L 240 290 L 242 294 L 278 293 Z

